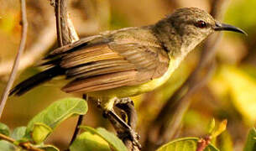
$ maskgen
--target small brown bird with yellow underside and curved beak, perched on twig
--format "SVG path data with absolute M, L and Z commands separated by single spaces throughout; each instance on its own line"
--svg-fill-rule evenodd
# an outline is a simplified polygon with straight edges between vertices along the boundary
M 112 111 L 119 98 L 163 85 L 196 45 L 224 30 L 246 34 L 201 8 L 178 8 L 157 23 L 102 32 L 52 50 L 42 64 L 48 68 L 19 83 L 10 95 L 65 76 L 62 91 L 86 94 Z

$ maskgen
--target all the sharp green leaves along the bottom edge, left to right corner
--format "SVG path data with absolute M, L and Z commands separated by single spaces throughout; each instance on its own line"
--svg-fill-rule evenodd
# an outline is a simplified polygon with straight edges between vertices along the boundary
M 29 143 L 36 148 L 43 149 L 45 151 L 59 151 L 50 144 L 44 144 L 45 139 L 53 133 L 55 128 L 60 125 L 66 118 L 76 115 L 86 114 L 87 104 L 86 101 L 79 98 L 65 98 L 60 101 L 54 102 L 39 112 L 34 118 L 30 120 L 27 127 L 18 127 L 10 134 L 7 125 L 0 123 L 0 133 L 10 138 L 15 139 L 13 143 L 5 140 L 0 141 L 0 148 L 7 151 L 14 151 L 20 148 L 21 143 Z M 196 151 L 201 145 L 205 145 L 205 151 L 218 151 L 216 147 L 210 141 L 217 138 L 223 131 L 226 130 L 227 120 L 224 120 L 216 127 L 215 120 L 209 123 L 208 134 L 206 138 L 178 138 L 170 143 L 166 143 L 157 151 Z M 113 133 L 108 132 L 105 128 L 90 128 L 87 126 L 81 126 L 81 129 L 86 132 L 81 133 L 76 140 L 69 147 L 71 151 L 127 151 L 128 149 L 123 142 Z M 252 151 L 255 147 L 256 131 L 253 128 L 248 134 L 248 142 L 245 151 Z M 206 142 L 206 144 L 202 142 Z

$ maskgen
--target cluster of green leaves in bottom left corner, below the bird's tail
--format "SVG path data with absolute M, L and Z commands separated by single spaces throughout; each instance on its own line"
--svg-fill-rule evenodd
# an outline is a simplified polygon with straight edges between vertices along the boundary
M 27 127 L 15 128 L 13 133 L 10 134 L 10 137 L 15 139 L 13 144 L 16 146 L 19 146 L 20 143 L 29 142 L 47 151 L 59 150 L 52 145 L 45 145 L 44 140 L 50 133 L 53 133 L 60 122 L 71 116 L 86 114 L 86 112 L 87 104 L 85 100 L 75 97 L 65 98 L 52 103 L 50 107 L 39 112 L 39 114 L 30 120 Z M 3 123 L 0 124 L 0 133 L 8 136 L 8 129 Z M 1 141 L 0 148 L 10 151 L 15 150 L 13 144 Z

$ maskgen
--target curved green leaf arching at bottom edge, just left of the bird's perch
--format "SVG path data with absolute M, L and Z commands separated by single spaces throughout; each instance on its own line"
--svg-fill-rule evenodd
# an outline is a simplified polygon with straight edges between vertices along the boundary
M 107 143 L 116 151 L 127 151 L 128 149 L 123 144 L 122 140 L 120 140 L 116 135 L 113 133 L 108 132 L 105 128 L 90 128 L 86 126 L 81 126 L 81 129 L 84 129 L 92 134 L 97 134 L 101 138 L 103 138 Z

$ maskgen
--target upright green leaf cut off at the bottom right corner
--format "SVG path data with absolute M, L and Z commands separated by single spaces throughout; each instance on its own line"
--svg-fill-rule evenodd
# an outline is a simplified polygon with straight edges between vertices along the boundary
M 248 138 L 245 143 L 243 151 L 255 151 L 256 150 L 256 129 L 252 128 L 248 133 Z

